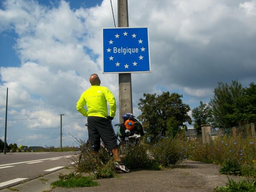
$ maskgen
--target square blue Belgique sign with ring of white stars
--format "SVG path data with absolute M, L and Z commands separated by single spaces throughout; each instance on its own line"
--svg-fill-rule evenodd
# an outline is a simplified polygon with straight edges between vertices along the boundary
M 150 72 L 148 28 L 103 29 L 103 73 Z

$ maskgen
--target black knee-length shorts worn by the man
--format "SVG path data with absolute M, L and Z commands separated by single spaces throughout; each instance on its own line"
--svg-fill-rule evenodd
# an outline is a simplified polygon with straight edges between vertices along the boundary
M 108 150 L 117 148 L 116 135 L 109 119 L 88 116 L 88 136 L 94 151 L 99 151 L 100 138 Z

